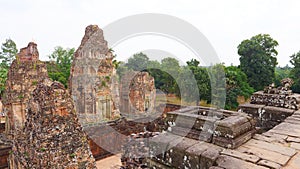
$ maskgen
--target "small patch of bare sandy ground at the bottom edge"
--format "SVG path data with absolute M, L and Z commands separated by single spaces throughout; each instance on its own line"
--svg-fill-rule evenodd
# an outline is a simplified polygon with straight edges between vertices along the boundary
M 121 154 L 96 161 L 96 166 L 98 169 L 119 169 L 121 165 Z

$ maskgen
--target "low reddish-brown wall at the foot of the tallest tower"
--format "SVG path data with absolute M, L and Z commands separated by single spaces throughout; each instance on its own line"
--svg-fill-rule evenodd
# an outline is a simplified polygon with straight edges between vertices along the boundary
M 142 119 L 138 121 L 142 121 Z M 145 130 L 161 132 L 166 129 L 167 125 L 162 117 L 146 123 L 128 121 L 122 118 L 109 123 L 85 127 L 85 131 L 89 135 L 91 151 L 96 159 L 104 158 L 111 155 L 111 153 L 120 153 L 122 145 L 128 141 L 128 136 L 131 134 L 144 132 Z

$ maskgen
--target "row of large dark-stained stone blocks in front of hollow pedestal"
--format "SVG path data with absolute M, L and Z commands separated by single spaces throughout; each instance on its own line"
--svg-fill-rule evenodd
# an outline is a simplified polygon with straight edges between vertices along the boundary
M 154 137 L 153 137 L 154 136 Z M 172 133 L 139 133 L 124 147 L 123 168 L 210 169 L 224 148 Z

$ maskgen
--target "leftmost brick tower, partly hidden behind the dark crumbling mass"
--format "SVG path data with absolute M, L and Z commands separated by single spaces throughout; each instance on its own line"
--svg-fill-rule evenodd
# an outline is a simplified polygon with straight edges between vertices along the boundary
M 5 92 L 2 97 L 7 115 L 6 134 L 10 138 L 14 130 L 22 130 L 25 123 L 26 103 L 36 85 L 48 78 L 46 65 L 38 60 L 36 44 L 30 42 L 21 49 L 8 71 Z

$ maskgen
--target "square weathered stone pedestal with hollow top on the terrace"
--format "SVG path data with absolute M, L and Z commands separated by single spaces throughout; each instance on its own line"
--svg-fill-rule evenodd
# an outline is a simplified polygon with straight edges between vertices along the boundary
M 255 133 L 255 121 L 250 116 L 227 110 L 186 107 L 167 113 L 166 120 L 176 135 L 231 149 Z

